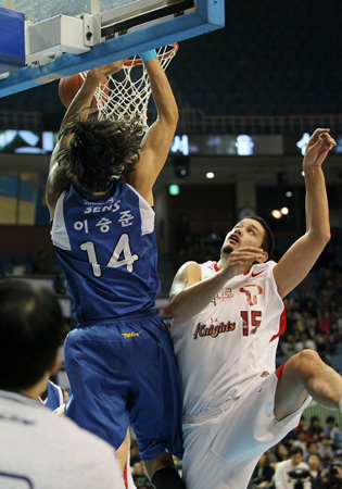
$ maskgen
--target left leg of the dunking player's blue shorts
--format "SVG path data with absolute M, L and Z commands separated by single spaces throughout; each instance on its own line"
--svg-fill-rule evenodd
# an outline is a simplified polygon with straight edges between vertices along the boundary
M 75 330 L 67 338 L 65 360 L 73 400 L 66 415 L 118 448 L 129 425 L 128 380 L 132 372 L 127 349 L 111 341 L 109 333 L 91 328 Z

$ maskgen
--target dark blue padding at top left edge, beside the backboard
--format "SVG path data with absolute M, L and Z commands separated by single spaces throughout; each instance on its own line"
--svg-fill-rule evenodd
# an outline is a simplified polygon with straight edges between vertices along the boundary
M 25 66 L 24 25 L 24 14 L 0 9 L 0 73 Z

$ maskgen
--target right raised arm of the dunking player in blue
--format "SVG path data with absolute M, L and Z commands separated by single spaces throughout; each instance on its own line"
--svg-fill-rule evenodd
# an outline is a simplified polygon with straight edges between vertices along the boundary
M 178 108 L 168 79 L 157 58 L 145 61 L 157 118 L 148 130 L 139 162 L 128 183 L 153 205 L 153 185 L 161 173 L 173 142 L 178 122 Z

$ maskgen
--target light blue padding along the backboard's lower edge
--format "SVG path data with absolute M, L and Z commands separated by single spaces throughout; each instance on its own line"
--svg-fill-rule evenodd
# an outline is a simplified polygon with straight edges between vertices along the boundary
M 198 0 L 195 12 L 161 21 L 94 46 L 85 54 L 63 54 L 42 66 L 25 67 L 0 80 L 0 97 L 129 58 L 172 42 L 211 33 L 225 25 L 224 0 Z

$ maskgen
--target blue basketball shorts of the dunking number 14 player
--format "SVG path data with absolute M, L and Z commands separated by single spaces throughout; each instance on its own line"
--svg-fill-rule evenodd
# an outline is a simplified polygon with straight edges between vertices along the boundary
M 117 449 L 132 426 L 140 456 L 182 459 L 176 360 L 169 333 L 152 313 L 83 325 L 65 340 L 73 399 L 66 415 Z

